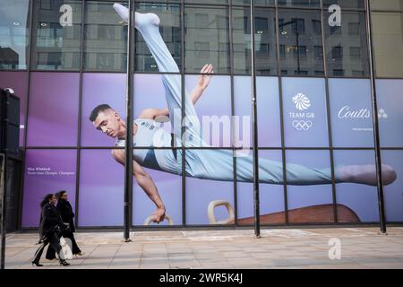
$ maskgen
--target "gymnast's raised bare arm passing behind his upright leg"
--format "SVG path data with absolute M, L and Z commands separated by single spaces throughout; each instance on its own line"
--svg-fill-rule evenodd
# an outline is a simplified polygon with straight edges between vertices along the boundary
M 201 75 L 197 81 L 196 86 L 191 91 L 191 99 L 193 105 L 200 99 L 202 93 L 209 86 L 212 74 L 214 74 L 214 67 L 212 65 L 204 65 L 200 71 Z M 169 117 L 169 110 L 166 109 L 144 109 L 141 111 L 139 118 L 156 119 L 157 117 Z

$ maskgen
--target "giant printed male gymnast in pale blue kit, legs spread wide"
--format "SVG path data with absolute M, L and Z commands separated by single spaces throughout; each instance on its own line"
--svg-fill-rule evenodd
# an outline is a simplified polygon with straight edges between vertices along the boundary
M 124 22 L 128 22 L 129 11 L 121 4 L 113 6 Z M 179 68 L 167 45 L 159 33 L 159 16 L 155 13 L 135 13 L 135 28 L 140 31 L 150 52 L 162 74 L 162 83 L 165 88 L 167 109 L 144 109 L 134 120 L 133 146 L 141 149 L 133 150 L 133 176 L 139 186 L 156 204 L 157 210 L 153 213 L 154 222 L 162 222 L 166 214 L 166 207 L 159 191 L 150 175 L 143 170 L 148 168 L 171 174 L 182 174 L 182 150 L 154 149 L 154 147 L 170 147 L 173 135 L 168 133 L 156 122 L 158 117 L 169 117 L 176 146 L 208 147 L 201 136 L 201 125 L 197 117 L 195 103 L 210 83 L 213 66 L 205 65 L 201 69 L 199 81 L 193 91 L 184 91 L 182 103 L 181 75 Z M 169 73 L 169 74 L 167 74 Z M 185 88 L 184 88 L 185 89 Z M 182 105 L 185 118 L 182 120 Z M 174 119 L 180 125 L 174 125 Z M 107 136 L 116 139 L 116 146 L 123 147 L 126 136 L 126 123 L 118 111 L 107 104 L 99 105 L 92 110 L 90 121 Z M 176 122 L 177 123 L 177 122 Z M 184 126 L 184 135 L 182 127 Z M 182 136 L 181 136 L 182 135 Z M 124 165 L 124 150 L 114 150 L 112 156 Z M 233 181 L 233 152 L 231 150 L 216 149 L 188 149 L 184 159 L 185 176 L 219 181 Z M 236 160 L 236 179 L 241 182 L 253 182 L 253 157 L 243 156 Z M 303 165 L 287 162 L 287 185 L 310 186 L 331 184 L 331 170 L 313 169 Z M 383 184 L 393 183 L 397 174 L 388 165 L 382 165 Z M 377 186 L 376 169 L 374 165 L 340 165 L 335 168 L 336 183 L 356 183 Z M 282 185 L 283 165 L 278 161 L 269 161 L 259 158 L 259 181 L 261 183 Z M 353 192 L 353 191 L 352 191 Z

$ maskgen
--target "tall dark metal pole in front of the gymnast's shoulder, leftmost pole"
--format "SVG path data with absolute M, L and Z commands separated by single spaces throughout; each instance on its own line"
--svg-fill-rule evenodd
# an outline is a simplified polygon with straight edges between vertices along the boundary
M 127 80 L 126 80 L 126 141 L 124 146 L 124 242 L 130 242 L 131 193 L 133 192 L 133 41 L 134 6 L 129 0 L 129 22 L 127 24 Z

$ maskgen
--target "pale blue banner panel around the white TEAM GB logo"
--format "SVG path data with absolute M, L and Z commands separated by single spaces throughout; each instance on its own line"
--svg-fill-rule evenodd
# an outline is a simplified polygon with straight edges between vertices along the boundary
M 283 78 L 284 137 L 287 147 L 328 147 L 328 122 L 326 115 L 326 91 L 324 79 Z M 297 131 L 292 123 L 299 118 L 291 118 L 290 112 L 299 113 L 293 97 L 304 93 L 311 100 L 311 108 L 304 113 L 315 113 L 313 127 L 308 131 Z M 306 120 L 306 118 L 304 118 Z

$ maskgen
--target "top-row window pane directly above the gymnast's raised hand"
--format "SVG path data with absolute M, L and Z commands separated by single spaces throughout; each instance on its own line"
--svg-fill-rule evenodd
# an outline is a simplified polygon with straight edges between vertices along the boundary
M 198 73 L 212 64 L 216 73 L 229 73 L 229 26 L 227 8 L 185 6 L 186 72 Z

